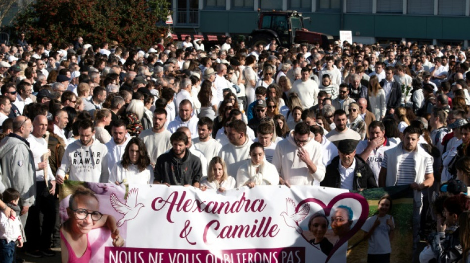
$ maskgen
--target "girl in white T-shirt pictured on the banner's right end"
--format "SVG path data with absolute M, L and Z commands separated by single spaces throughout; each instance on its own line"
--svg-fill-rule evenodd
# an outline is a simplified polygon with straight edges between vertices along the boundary
M 378 214 L 368 218 L 361 228 L 364 230 L 364 239 L 369 239 L 367 262 L 390 262 L 390 241 L 395 229 L 393 217 L 388 214 L 391 208 L 392 198 L 389 195 L 382 196 L 378 200 Z

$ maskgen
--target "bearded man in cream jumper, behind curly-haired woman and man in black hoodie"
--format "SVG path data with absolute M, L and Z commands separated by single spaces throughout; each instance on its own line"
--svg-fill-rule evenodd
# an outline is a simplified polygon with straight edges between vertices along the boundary
M 171 149 L 171 132 L 165 129 L 167 112 L 163 108 L 153 111 L 153 127 L 141 132 L 139 138 L 142 139 L 150 156 L 150 163 L 155 164 L 158 156 Z

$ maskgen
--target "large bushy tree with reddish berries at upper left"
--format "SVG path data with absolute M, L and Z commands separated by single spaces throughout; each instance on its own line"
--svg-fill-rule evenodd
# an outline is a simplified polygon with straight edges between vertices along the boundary
M 58 47 L 78 37 L 90 44 L 116 40 L 149 46 L 165 33 L 155 14 L 147 0 L 37 0 L 18 15 L 15 29 L 28 32 L 29 42 L 51 41 Z

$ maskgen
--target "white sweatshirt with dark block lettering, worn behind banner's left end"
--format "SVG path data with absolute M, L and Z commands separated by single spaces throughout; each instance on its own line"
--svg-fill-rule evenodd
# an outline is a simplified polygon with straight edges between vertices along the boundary
M 77 140 L 65 149 L 57 175 L 65 177 L 65 174 L 68 174 L 68 179 L 73 181 L 107 183 L 107 154 L 106 146 L 97 140 L 93 140 L 89 147 L 83 146 L 82 141 Z

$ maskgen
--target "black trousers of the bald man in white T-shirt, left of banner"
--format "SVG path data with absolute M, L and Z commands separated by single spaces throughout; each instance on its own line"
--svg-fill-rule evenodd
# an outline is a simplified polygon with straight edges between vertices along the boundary
M 55 225 L 55 200 L 49 193 L 45 182 L 37 182 L 36 204 L 29 208 L 28 221 L 25 227 L 29 251 L 47 250 L 50 248 L 50 237 Z

